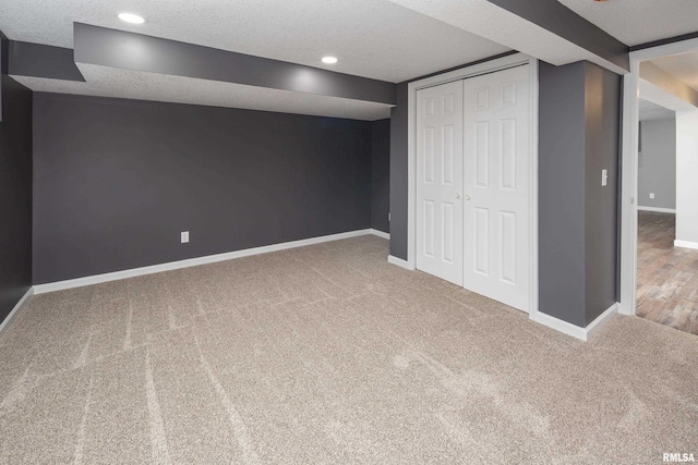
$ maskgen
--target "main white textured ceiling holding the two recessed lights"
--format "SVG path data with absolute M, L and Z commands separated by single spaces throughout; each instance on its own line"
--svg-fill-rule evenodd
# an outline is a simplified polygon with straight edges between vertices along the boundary
M 72 48 L 82 22 L 394 83 L 508 50 L 386 0 L 0 0 L 0 12 L 13 40 Z

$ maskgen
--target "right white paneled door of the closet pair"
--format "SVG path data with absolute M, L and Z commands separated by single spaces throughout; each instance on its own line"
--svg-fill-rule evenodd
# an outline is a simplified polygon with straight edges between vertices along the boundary
M 465 286 L 529 311 L 529 71 L 465 81 Z

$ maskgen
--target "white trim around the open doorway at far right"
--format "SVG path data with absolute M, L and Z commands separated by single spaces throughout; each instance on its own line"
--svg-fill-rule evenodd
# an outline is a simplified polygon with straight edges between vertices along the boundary
M 630 52 L 630 72 L 623 81 L 623 168 L 621 193 L 621 303 L 618 313 L 635 315 L 637 285 L 637 163 L 640 62 L 698 50 L 698 39 Z

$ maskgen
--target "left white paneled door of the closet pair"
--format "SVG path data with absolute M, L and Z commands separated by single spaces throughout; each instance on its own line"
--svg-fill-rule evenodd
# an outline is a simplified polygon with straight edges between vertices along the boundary
M 417 93 L 417 268 L 462 285 L 462 82 Z

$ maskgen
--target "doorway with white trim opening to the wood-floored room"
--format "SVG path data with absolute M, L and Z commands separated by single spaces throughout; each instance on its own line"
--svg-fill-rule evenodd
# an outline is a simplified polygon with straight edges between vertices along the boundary
M 698 39 L 630 53 L 621 313 L 698 334 Z

